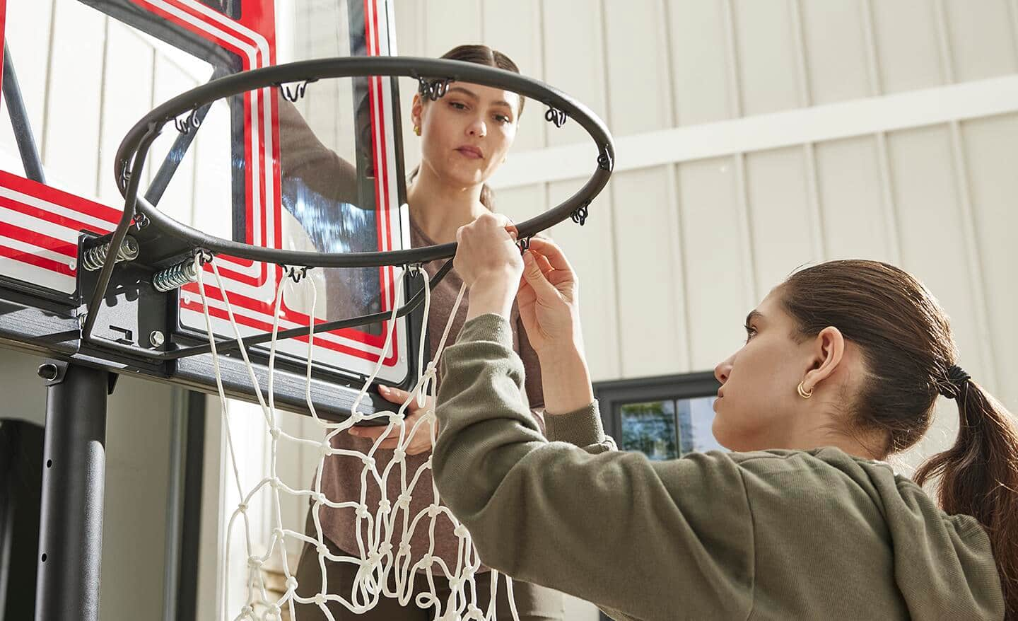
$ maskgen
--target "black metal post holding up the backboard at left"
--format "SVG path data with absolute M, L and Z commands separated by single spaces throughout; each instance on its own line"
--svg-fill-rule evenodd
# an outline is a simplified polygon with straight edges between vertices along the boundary
M 107 371 L 49 360 L 36 620 L 99 619 Z

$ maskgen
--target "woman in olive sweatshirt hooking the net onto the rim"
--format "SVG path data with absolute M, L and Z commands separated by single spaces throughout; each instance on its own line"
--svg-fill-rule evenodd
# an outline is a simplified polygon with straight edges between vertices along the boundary
M 715 370 L 734 452 L 655 462 L 602 431 L 561 250 L 534 239 L 521 259 L 496 216 L 457 237 L 470 301 L 442 361 L 435 481 L 486 564 L 616 619 L 1018 619 L 1018 434 L 914 278 L 869 261 L 793 274 Z M 517 288 L 548 439 L 520 406 Z M 883 462 L 938 395 L 959 436 L 915 479 L 941 477 L 940 506 Z

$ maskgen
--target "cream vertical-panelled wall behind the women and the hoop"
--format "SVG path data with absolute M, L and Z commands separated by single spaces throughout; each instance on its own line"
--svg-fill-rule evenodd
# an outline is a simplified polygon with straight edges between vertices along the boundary
M 732 129 L 723 123 L 739 119 L 805 114 L 865 98 L 880 102 L 1018 71 L 1015 0 L 394 4 L 400 53 L 437 56 L 459 43 L 488 43 L 512 56 L 524 73 L 587 104 L 620 143 L 633 136 L 654 143 L 661 132 L 708 123 L 722 123 L 708 126 L 721 131 Z M 117 201 L 111 162 L 126 124 L 154 103 L 204 81 L 210 71 L 73 0 L 8 0 L 7 5 L 8 22 L 23 24 L 8 35 L 47 171 L 73 191 Z M 155 78 L 126 80 L 131 71 Z M 922 101 L 937 102 L 938 93 Z M 412 84 L 407 83 L 405 105 L 410 94 Z M 75 114 L 63 114 L 66 110 Z M 540 106 L 531 106 L 524 115 L 507 173 L 513 167 L 528 170 L 528 163 L 549 149 L 583 142 L 575 123 L 555 129 L 542 113 Z M 794 123 L 795 117 L 781 118 Z M 415 163 L 416 139 L 404 127 L 407 168 Z M 710 131 L 699 139 L 710 143 Z M 5 165 L 17 161 L 12 147 L 2 109 L 0 158 Z M 552 231 L 583 281 L 584 330 L 596 379 L 712 369 L 739 346 L 746 312 L 791 270 L 809 262 L 861 257 L 891 261 L 922 278 L 953 318 L 963 365 L 1018 410 L 1018 386 L 1008 382 L 1018 377 L 1013 353 L 1018 351 L 1018 327 L 1011 321 L 1018 302 L 1018 281 L 1012 274 L 1018 265 L 1012 240 L 1018 212 L 1010 204 L 1018 193 L 1011 170 L 1016 150 L 1018 113 L 1005 110 L 958 122 L 626 170 L 620 161 L 610 187 L 591 206 L 586 226 L 566 223 Z M 203 217 L 193 210 L 194 196 L 220 191 L 222 183 L 215 176 L 203 176 L 213 169 L 185 168 L 179 178 L 189 180 L 171 185 L 179 200 L 167 204 L 191 210 L 178 214 L 182 219 Z M 499 209 L 523 218 L 582 182 L 547 176 L 496 179 L 501 184 Z M 23 388 L 38 386 L 31 377 L 37 361 L 7 351 L 0 357 L 5 370 L 0 390 L 23 399 L 23 411 L 43 411 L 42 388 Z M 142 479 L 165 481 L 162 472 L 168 467 L 165 449 L 155 442 L 165 436 L 162 428 L 153 427 L 169 425 L 160 410 L 170 407 L 168 389 L 128 382 L 120 391 L 124 404 L 111 409 L 114 469 L 107 483 L 106 527 L 112 534 L 106 545 L 120 541 L 125 548 L 113 561 L 104 559 L 104 584 L 115 588 L 103 595 L 104 618 L 111 619 L 130 617 L 112 611 L 136 612 L 161 602 L 161 576 L 138 570 L 138 555 L 128 555 L 127 547 L 136 551 L 144 545 L 145 558 L 162 559 L 165 516 L 158 503 L 165 492 L 156 485 L 145 488 Z M 907 456 L 906 465 L 949 444 L 955 418 L 945 403 L 936 432 Z M 210 425 L 217 420 L 210 416 Z M 218 510 L 215 499 L 222 496 L 224 482 L 229 483 L 220 469 L 219 431 L 218 425 L 210 429 L 207 492 L 216 492 L 207 495 L 210 512 Z M 250 450 L 264 458 L 265 444 L 251 440 Z M 298 479 L 309 476 L 312 461 L 295 454 L 287 471 Z M 116 468 L 123 470 L 122 476 Z M 148 489 L 152 497 L 138 502 L 139 489 Z M 133 523 L 152 530 L 128 528 L 139 510 L 144 519 Z M 302 517 L 296 504 L 284 512 L 288 521 L 299 523 Z M 203 558 L 203 575 L 214 573 L 219 562 L 212 543 L 220 537 L 215 512 L 206 521 L 212 556 Z M 114 525 L 117 529 L 111 531 Z M 124 532 L 129 537 L 121 538 Z M 130 592 L 116 587 L 116 569 L 109 563 L 131 568 L 136 587 Z M 162 566 L 161 561 L 153 565 Z M 203 601 L 214 597 L 204 595 Z M 214 610 L 209 609 L 207 618 L 214 618 Z M 570 619 L 583 621 L 592 614 L 579 605 L 571 611 Z

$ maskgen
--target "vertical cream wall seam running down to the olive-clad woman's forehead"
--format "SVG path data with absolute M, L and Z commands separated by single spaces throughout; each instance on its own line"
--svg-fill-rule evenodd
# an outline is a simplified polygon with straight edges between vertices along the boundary
M 735 45 L 735 14 L 732 0 L 724 0 L 725 43 L 728 50 L 728 100 L 734 118 L 742 117 L 742 88 L 739 78 L 739 55 Z M 752 306 L 757 301 L 756 262 L 750 233 L 749 190 L 746 186 L 746 155 L 732 156 L 735 164 L 736 220 L 742 241 L 742 278 L 746 295 L 745 305 Z

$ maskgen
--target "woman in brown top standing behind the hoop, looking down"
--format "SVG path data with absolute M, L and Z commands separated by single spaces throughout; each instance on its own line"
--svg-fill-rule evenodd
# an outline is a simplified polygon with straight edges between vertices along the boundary
M 519 72 L 516 65 L 504 54 L 491 50 L 486 46 L 460 46 L 442 56 L 442 58 L 475 62 L 489 66 Z M 456 230 L 482 214 L 491 213 L 493 195 L 485 182 L 505 162 L 506 154 L 516 135 L 518 118 L 523 109 L 523 100 L 515 93 L 465 82 L 452 82 L 448 93 L 437 101 L 427 101 L 419 95 L 413 99 L 411 121 L 414 133 L 421 138 L 421 163 L 411 177 L 411 185 L 407 190 L 407 204 L 410 210 L 411 242 L 413 246 L 444 243 L 455 239 Z M 281 119 L 283 114 L 281 113 Z M 285 119 L 283 119 L 285 121 Z M 284 136 L 285 139 L 285 136 Z M 284 168 L 286 168 L 284 154 Z M 317 161 L 328 163 L 333 161 L 336 166 L 338 158 L 318 158 Z M 295 160 L 292 160 L 295 161 Z M 341 161 L 340 161 L 341 162 Z M 340 175 L 338 178 L 342 178 Z M 434 275 L 444 262 L 426 264 L 425 269 Z M 439 335 L 445 329 L 446 322 L 462 281 L 455 271 L 450 272 L 436 287 L 432 294 L 431 314 L 429 317 L 429 333 L 431 334 L 430 357 L 434 357 Z M 466 302 L 459 308 L 453 322 L 449 342 L 455 340 L 463 325 L 466 314 Z M 538 408 L 543 407 L 541 388 L 541 372 L 536 355 L 526 340 L 526 335 L 519 328 L 518 312 L 511 312 L 513 326 L 513 348 L 527 366 L 527 382 L 525 396 L 528 399 L 530 415 L 535 425 L 543 427 L 544 421 Z M 402 404 L 407 393 L 387 387 L 380 387 L 383 397 L 394 404 Z M 407 409 L 405 428 L 413 429 L 414 424 L 426 415 L 432 403 L 425 407 L 416 407 L 414 401 Z M 385 433 L 385 427 L 358 427 L 348 433 L 339 434 L 332 440 L 336 449 L 345 449 L 366 453 L 379 436 Z M 377 466 L 383 471 L 398 442 L 398 430 L 382 441 L 380 450 L 376 453 Z M 405 447 L 407 453 L 407 472 L 416 472 L 431 457 L 431 431 L 428 425 L 420 425 L 415 437 L 409 440 Z M 328 457 L 323 466 L 322 492 L 334 502 L 359 502 L 361 492 L 361 471 L 363 464 L 359 459 L 343 455 Z M 389 476 L 387 496 L 395 499 L 400 493 L 398 476 Z M 431 503 L 432 476 L 431 470 L 425 470 L 413 489 L 408 513 L 417 515 L 427 510 Z M 370 485 L 366 490 L 365 503 L 369 511 L 375 512 L 381 500 L 380 490 L 376 485 Z M 332 509 L 322 507 L 320 512 L 323 533 L 327 540 L 330 552 L 338 556 L 356 557 L 358 545 L 356 525 L 358 518 L 353 509 Z M 426 522 L 421 522 L 425 524 Z M 308 512 L 307 532 L 317 537 L 316 528 Z M 410 564 L 416 563 L 428 553 L 430 544 L 429 531 L 426 525 L 418 526 L 410 539 Z M 452 523 L 444 518 L 437 522 L 434 533 L 434 552 L 432 556 L 441 558 L 450 568 L 456 567 L 459 539 L 453 532 Z M 394 542 L 394 545 L 398 542 Z M 445 599 L 449 595 L 449 584 L 443 571 L 434 567 L 435 589 L 442 601 L 445 610 Z M 357 567 L 350 563 L 327 563 L 326 572 L 330 592 L 349 595 L 354 583 Z M 477 606 L 488 609 L 490 587 L 488 569 L 482 568 L 476 576 Z M 315 548 L 306 545 L 301 554 L 296 572 L 298 587 L 296 592 L 302 598 L 314 597 L 322 584 L 319 555 Z M 414 594 L 428 591 L 428 580 L 418 573 L 414 584 Z M 506 598 L 504 582 L 498 591 L 498 618 L 511 619 L 509 603 Z M 514 584 L 514 601 L 520 618 L 523 621 L 559 620 L 563 615 L 562 596 L 549 588 L 518 582 Z M 366 613 L 351 614 L 345 607 L 336 602 L 328 602 L 329 611 L 337 620 L 341 619 L 378 619 L 384 621 L 400 621 L 403 619 L 431 619 L 434 611 L 421 610 L 411 599 L 407 606 L 401 606 L 397 601 L 381 598 L 378 605 Z M 325 614 L 315 605 L 298 605 L 297 618 L 300 621 L 325 619 Z

